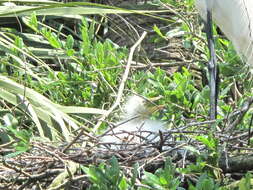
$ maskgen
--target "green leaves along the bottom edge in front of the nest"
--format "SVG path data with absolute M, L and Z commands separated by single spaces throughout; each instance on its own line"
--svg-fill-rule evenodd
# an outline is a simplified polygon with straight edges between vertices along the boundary
M 173 166 L 170 158 L 167 158 L 164 168 L 158 169 L 154 174 L 144 172 L 142 186 L 135 182 L 134 175 L 138 173 L 135 168 L 132 178 L 126 178 L 118 165 L 117 159 L 113 157 L 108 164 L 100 164 L 98 167 L 82 167 L 91 182 L 89 189 L 157 189 L 157 190 L 184 190 L 182 183 L 177 177 L 176 168 Z M 247 177 L 246 177 L 247 178 Z M 130 180 L 131 179 L 131 180 Z M 133 180 L 134 179 L 134 180 Z M 243 182 L 241 182 L 242 184 Z M 247 183 L 247 182 L 246 182 Z M 246 184 L 245 183 L 245 184 Z M 207 174 L 202 174 L 195 185 L 188 182 L 190 190 L 226 190 L 225 187 L 215 183 L 214 179 Z M 248 184 L 247 184 L 248 185 Z M 247 188 L 246 188 L 247 189 Z

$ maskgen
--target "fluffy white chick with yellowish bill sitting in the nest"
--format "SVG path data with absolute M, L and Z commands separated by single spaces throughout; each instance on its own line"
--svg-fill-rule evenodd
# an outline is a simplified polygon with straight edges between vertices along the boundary
M 152 120 L 153 112 L 161 109 L 139 96 L 130 96 L 123 106 L 122 120 L 102 137 L 103 144 L 111 149 L 127 149 L 145 143 L 159 141 L 159 131 L 165 132 L 165 123 Z

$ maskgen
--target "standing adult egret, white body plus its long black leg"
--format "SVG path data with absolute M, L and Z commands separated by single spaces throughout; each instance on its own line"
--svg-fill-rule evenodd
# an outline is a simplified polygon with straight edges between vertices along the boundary
M 210 118 L 217 112 L 217 69 L 212 40 L 212 18 L 232 41 L 236 51 L 249 65 L 253 66 L 253 1 L 252 0 L 196 0 L 196 7 L 207 25 L 207 37 L 211 61 L 210 70 Z

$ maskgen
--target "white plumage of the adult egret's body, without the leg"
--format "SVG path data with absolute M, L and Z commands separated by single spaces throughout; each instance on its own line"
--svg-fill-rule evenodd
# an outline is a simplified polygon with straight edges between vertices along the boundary
M 253 0 L 196 0 L 204 20 L 207 6 L 236 51 L 253 66 Z

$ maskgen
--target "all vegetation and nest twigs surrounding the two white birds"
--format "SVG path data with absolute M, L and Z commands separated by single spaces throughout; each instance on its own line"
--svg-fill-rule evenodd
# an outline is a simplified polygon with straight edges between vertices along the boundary
M 220 92 L 209 121 L 194 1 L 135 3 L 1 2 L 0 189 L 252 189 L 248 66 L 214 26 Z M 168 132 L 134 151 L 101 148 L 131 94 L 159 97 L 152 117 Z

